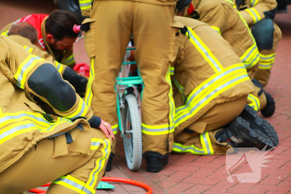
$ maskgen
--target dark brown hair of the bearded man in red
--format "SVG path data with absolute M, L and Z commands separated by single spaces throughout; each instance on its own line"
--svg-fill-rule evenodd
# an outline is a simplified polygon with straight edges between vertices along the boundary
M 78 34 L 73 31 L 74 24 L 79 24 L 76 16 L 65 10 L 54 10 L 45 21 L 45 30 L 52 34 L 56 41 L 64 37 L 77 38 Z

